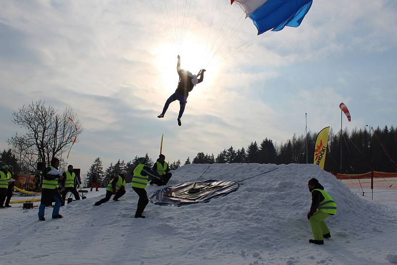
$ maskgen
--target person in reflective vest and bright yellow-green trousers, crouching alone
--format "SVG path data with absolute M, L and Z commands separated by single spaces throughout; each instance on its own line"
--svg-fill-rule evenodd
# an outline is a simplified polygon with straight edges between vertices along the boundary
M 324 238 L 330 238 L 331 233 L 324 220 L 336 214 L 336 203 L 331 196 L 324 191 L 324 187 L 315 178 L 308 182 L 309 191 L 312 194 L 312 205 L 307 214 L 312 228 L 314 239 L 309 243 L 323 245 Z

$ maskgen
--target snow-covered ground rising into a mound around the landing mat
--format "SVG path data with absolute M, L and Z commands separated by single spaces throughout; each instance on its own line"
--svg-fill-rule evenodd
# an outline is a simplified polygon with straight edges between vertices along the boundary
M 170 185 L 195 181 L 208 165 L 186 165 Z M 127 186 L 120 201 L 93 206 L 100 197 L 61 208 L 63 219 L 37 220 L 37 209 L 0 210 L 0 264 L 390 264 L 396 250 L 396 213 L 361 199 L 317 165 L 213 164 L 202 179 L 243 181 L 208 203 L 158 206 L 133 218 L 137 195 Z M 332 238 L 312 238 L 306 214 L 307 181 L 317 178 L 336 201 L 326 219 Z M 150 195 L 161 187 L 148 186 Z M 91 194 L 101 194 L 103 192 Z M 389 258 L 387 258 L 389 257 Z

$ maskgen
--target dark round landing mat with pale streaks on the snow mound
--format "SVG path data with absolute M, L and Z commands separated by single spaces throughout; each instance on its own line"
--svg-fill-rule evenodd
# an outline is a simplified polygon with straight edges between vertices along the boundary
M 149 200 L 157 205 L 182 206 L 208 202 L 213 198 L 232 193 L 238 188 L 239 184 L 234 181 L 205 180 L 196 184 L 187 182 L 158 190 L 149 197 Z

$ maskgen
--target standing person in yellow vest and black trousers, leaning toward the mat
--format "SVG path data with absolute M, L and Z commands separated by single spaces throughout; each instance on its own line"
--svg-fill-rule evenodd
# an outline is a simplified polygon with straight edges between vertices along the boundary
M 152 179 L 161 180 L 161 176 L 156 172 L 151 170 L 144 163 L 146 162 L 146 158 L 140 157 L 138 159 L 138 165 L 133 170 L 131 187 L 132 190 L 139 196 L 138 206 L 136 207 L 135 218 L 145 218 L 142 215 L 143 210 L 145 209 L 147 203 L 149 203 L 149 199 L 147 199 L 146 193 L 146 185 L 148 181 Z

